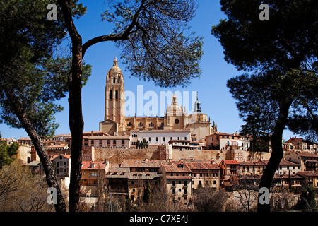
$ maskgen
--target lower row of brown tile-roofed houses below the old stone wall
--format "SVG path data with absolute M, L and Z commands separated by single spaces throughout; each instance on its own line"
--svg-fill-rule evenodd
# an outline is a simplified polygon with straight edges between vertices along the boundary
M 70 155 L 52 156 L 52 161 L 58 175 L 69 175 Z M 276 170 L 275 186 L 298 187 L 302 179 L 307 178 L 317 187 L 317 165 L 312 170 L 307 164 L 314 161 L 318 162 L 318 155 L 313 153 L 285 153 L 285 159 Z M 105 186 L 112 196 L 123 195 L 136 201 L 149 183 L 153 191 L 161 186 L 175 198 L 187 201 L 200 187 L 230 189 L 242 177 L 260 179 L 267 163 L 268 160 L 222 160 L 217 164 L 214 160 L 129 159 L 112 165 L 108 160 L 83 161 L 81 192 L 83 196 L 97 196 L 99 186 Z M 105 184 L 101 184 L 102 181 Z

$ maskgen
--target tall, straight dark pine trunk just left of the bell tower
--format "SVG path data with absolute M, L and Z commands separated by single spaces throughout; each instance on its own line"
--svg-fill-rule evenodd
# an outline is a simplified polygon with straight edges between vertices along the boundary
M 71 130 L 71 182 L 69 185 L 69 211 L 78 210 L 81 189 L 81 162 L 84 121 L 82 115 L 82 38 L 73 23 L 70 2 L 59 0 L 67 30 L 72 42 L 72 68 L 69 73 L 69 128 Z

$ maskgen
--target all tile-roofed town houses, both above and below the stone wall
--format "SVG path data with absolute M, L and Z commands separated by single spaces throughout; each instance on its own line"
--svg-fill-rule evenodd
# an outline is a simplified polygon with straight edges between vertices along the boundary
M 160 136 L 164 135 L 164 136 Z M 206 136 L 204 143 L 196 142 L 194 134 L 188 131 L 173 131 L 169 134 L 156 131 L 139 131 L 110 136 L 102 131 L 90 131 L 83 134 L 83 146 L 107 148 L 132 148 L 136 138 L 145 138 L 149 143 L 160 139 L 170 150 L 203 149 L 216 150 L 247 150 L 249 138 L 238 133 L 216 132 Z M 156 136 L 160 136 L 159 138 Z M 26 160 L 31 170 L 41 171 L 32 142 L 29 138 L 18 141 L 4 139 L 8 144 L 18 143 L 29 146 L 30 157 Z M 65 180 L 71 174 L 71 139 L 69 135 L 54 136 L 43 141 L 58 177 Z M 317 144 L 302 138 L 290 138 L 282 143 L 284 156 L 276 170 L 274 184 L 276 186 L 301 186 L 302 179 L 307 178 L 314 186 L 318 186 L 318 155 Z M 213 151 L 213 150 L 211 150 Z M 269 150 L 270 151 L 270 150 Z M 59 153 L 59 154 L 56 154 Z M 62 154 L 63 153 L 63 154 Z M 25 157 L 24 155 L 21 155 Z M 180 159 L 160 157 L 153 159 L 128 159 L 119 164 L 106 160 L 96 161 L 93 157 L 82 162 L 81 193 L 83 196 L 97 196 L 100 186 L 107 187 L 113 196 L 126 196 L 136 201 L 143 194 L 143 189 L 150 184 L 153 191 L 159 187 L 167 189 L 172 196 L 184 201 L 189 200 L 195 190 L 200 187 L 213 189 L 231 189 L 240 178 L 248 176 L 260 179 L 268 160 L 243 161 L 239 158 L 218 160 Z M 101 183 L 102 182 L 102 183 Z M 67 182 L 66 182 L 67 184 Z

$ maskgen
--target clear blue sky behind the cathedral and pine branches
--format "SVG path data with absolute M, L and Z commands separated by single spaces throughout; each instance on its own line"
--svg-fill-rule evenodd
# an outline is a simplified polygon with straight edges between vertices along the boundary
M 75 20 L 78 32 L 81 34 L 83 43 L 98 35 L 107 35 L 112 32 L 112 24 L 102 22 L 101 13 L 107 8 L 104 0 L 81 1 L 87 6 L 85 16 Z M 201 59 L 201 78 L 192 80 L 186 87 L 159 88 L 152 82 L 140 81 L 139 78 L 130 76 L 130 72 L 125 70 L 125 65 L 120 60 L 120 50 L 114 46 L 113 42 L 102 42 L 95 44 L 86 51 L 84 61 L 93 66 L 92 75 L 88 83 L 82 90 L 84 131 L 98 130 L 99 122 L 104 119 L 104 97 L 105 78 L 107 71 L 112 67 L 114 57 L 117 56 L 118 65 L 124 74 L 124 89 L 134 92 L 136 95 L 137 85 L 143 85 L 143 93 L 153 90 L 160 91 L 198 91 L 202 112 L 211 117 L 211 121 L 216 121 L 218 130 L 225 133 L 234 133 L 240 130 L 242 119 L 238 117 L 235 100 L 232 98 L 226 82 L 233 76 L 243 72 L 237 71 L 234 66 L 227 64 L 224 60 L 223 48 L 220 43 L 211 35 L 211 26 L 219 23 L 225 18 L 220 11 L 219 1 L 199 0 L 199 8 L 196 16 L 190 23 L 191 30 L 196 35 L 204 37 L 204 55 Z M 191 98 L 191 97 L 190 97 Z M 143 101 L 145 104 L 147 100 Z M 159 100 L 158 100 L 159 102 Z M 181 105 L 180 100 L 178 104 Z M 69 105 L 67 97 L 60 100 L 64 106 L 64 111 L 55 115 L 57 123 L 60 124 L 56 134 L 69 133 Z M 170 105 L 171 100 L 167 100 Z M 193 106 L 189 107 L 191 111 Z M 24 129 L 13 129 L 6 124 L 0 124 L 0 133 L 5 138 L 20 138 L 28 136 Z M 283 137 L 288 140 L 293 133 L 285 131 Z

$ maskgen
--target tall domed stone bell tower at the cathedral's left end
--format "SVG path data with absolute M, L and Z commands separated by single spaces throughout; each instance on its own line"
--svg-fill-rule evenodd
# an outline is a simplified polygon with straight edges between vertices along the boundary
M 125 93 L 124 76 L 118 66 L 117 58 L 107 71 L 105 85 L 105 117 L 100 122 L 100 131 L 114 133 L 124 130 L 125 121 Z

